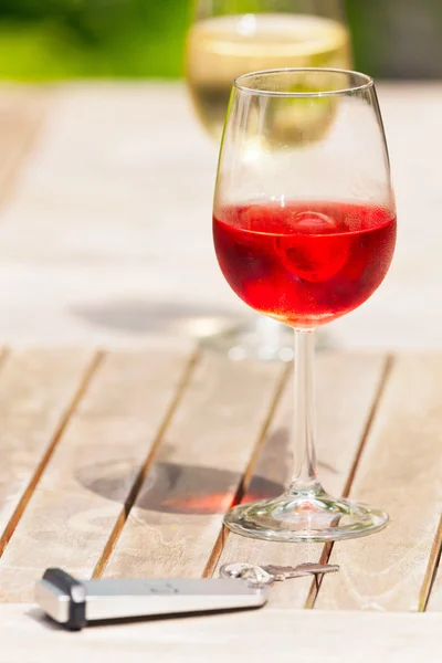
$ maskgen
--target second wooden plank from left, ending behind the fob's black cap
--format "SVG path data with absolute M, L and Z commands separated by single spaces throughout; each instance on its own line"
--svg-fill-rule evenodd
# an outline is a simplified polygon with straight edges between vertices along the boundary
M 0 560 L 0 600 L 30 600 L 49 566 L 92 573 L 188 370 L 187 351 L 104 357 Z

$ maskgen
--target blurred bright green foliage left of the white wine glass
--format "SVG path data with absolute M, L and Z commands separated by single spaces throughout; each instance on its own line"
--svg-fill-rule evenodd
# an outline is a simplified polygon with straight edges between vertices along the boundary
M 181 74 L 187 0 L 0 0 L 0 78 Z

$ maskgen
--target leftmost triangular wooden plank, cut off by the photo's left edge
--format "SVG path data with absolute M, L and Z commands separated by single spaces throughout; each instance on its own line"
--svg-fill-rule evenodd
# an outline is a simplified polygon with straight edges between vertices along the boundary
M 88 350 L 15 350 L 0 371 L 0 557 L 94 365 Z

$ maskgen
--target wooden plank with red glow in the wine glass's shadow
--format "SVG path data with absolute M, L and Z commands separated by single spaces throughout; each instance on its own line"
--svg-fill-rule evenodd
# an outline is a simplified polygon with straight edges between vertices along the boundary
M 285 375 L 204 355 L 105 576 L 203 573 Z

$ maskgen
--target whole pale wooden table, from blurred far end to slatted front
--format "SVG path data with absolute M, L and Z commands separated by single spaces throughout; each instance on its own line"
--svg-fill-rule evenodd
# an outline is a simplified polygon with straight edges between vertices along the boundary
M 233 502 L 288 478 L 291 381 L 170 334 L 180 315 L 244 312 L 213 257 L 215 150 L 183 86 L 0 88 L 0 663 L 440 663 L 442 85 L 379 92 L 398 250 L 329 326 L 343 351 L 318 357 L 318 451 L 330 492 L 392 519 L 324 548 L 222 530 Z M 201 577 L 239 559 L 341 570 L 255 612 L 77 635 L 30 607 L 51 565 Z

